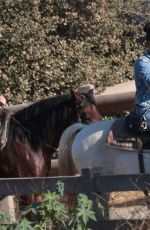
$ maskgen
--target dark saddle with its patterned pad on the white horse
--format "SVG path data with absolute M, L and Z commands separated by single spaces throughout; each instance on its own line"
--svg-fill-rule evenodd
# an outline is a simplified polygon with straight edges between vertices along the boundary
M 109 130 L 106 146 L 138 152 L 150 150 L 150 133 L 130 132 L 126 129 L 125 118 L 118 118 Z

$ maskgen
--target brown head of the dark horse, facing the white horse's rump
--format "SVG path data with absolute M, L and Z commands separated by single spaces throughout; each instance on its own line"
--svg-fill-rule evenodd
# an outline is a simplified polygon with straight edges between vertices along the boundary
M 82 123 L 90 124 L 100 120 L 100 114 L 96 108 L 93 89 L 85 93 L 72 90 L 71 94 L 75 99 L 78 118 Z

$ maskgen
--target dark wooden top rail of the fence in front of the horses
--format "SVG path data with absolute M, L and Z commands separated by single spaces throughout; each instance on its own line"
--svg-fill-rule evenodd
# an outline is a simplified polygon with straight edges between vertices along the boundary
M 100 176 L 84 169 L 82 176 L 0 178 L 0 196 L 53 192 L 58 181 L 64 183 L 65 194 L 150 190 L 150 174 Z

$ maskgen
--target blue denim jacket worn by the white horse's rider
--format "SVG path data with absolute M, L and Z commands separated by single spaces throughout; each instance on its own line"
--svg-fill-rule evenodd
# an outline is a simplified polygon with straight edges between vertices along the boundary
M 143 115 L 150 108 L 150 52 L 145 50 L 135 61 L 136 114 Z

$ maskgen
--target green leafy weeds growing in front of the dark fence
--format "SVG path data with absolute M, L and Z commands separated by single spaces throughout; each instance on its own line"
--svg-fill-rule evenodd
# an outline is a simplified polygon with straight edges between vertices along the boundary
M 88 221 L 96 221 L 93 201 L 86 195 L 79 194 L 76 208 L 68 212 L 68 208 L 60 201 L 63 194 L 64 184 L 58 182 L 56 192 L 44 193 L 41 203 L 30 205 L 21 212 L 21 220 L 15 227 L 5 226 L 0 230 L 87 230 Z M 101 205 L 99 208 L 104 212 Z M 29 214 L 36 215 L 39 220 L 37 224 L 27 220 Z M 6 216 L 0 212 L 0 218 Z

